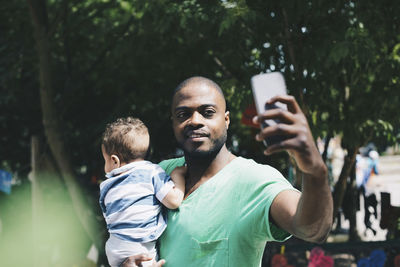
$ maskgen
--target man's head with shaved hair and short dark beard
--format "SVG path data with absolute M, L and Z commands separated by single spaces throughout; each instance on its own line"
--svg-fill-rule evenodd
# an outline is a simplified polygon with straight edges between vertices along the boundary
M 229 126 L 223 96 L 206 83 L 192 83 L 178 91 L 172 103 L 176 140 L 185 155 L 215 156 L 224 146 Z

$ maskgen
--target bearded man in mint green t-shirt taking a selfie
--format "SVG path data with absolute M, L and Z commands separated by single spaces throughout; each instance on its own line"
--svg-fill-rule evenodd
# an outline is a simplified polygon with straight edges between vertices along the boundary
M 185 200 L 178 210 L 169 211 L 168 227 L 160 239 L 165 266 L 258 267 L 267 241 L 285 240 L 290 234 L 311 242 L 326 239 L 332 223 L 327 169 L 295 99 L 277 96 L 269 104 L 278 101 L 288 110 L 268 110 L 254 121 L 283 123 L 263 129 L 256 139 L 288 137 L 269 146 L 265 154 L 287 150 L 294 156 L 304 173 L 302 193 L 272 167 L 229 152 L 225 145 L 229 111 L 217 84 L 193 77 L 177 87 L 172 122 L 184 158 L 160 165 L 170 173 L 186 163 L 187 174 Z M 132 256 L 123 266 L 136 266 L 145 259 Z M 162 266 L 164 260 L 157 264 Z

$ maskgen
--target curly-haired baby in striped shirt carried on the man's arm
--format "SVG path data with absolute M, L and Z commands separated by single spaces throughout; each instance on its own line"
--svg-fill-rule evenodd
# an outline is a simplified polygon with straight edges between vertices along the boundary
M 106 255 L 112 267 L 142 253 L 155 261 L 156 240 L 167 227 L 161 204 L 176 209 L 183 200 L 185 170 L 177 169 L 170 177 L 144 160 L 149 142 L 147 127 L 131 117 L 108 124 L 103 134 L 107 179 L 100 184 L 100 207 L 110 233 Z M 142 264 L 151 266 L 152 261 Z

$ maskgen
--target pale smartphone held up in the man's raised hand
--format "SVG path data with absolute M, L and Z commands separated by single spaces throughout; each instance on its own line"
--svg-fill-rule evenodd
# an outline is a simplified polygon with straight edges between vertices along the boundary
M 251 77 L 251 88 L 253 90 L 254 102 L 256 104 L 257 113 L 263 113 L 268 109 L 281 108 L 287 110 L 286 104 L 277 102 L 275 104 L 267 104 L 267 101 L 276 95 L 286 95 L 285 79 L 280 72 L 269 72 Z M 273 126 L 280 123 L 279 120 L 265 120 L 261 124 L 261 128 Z M 272 145 L 285 140 L 284 136 L 271 136 L 264 140 L 265 146 Z

